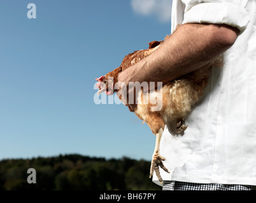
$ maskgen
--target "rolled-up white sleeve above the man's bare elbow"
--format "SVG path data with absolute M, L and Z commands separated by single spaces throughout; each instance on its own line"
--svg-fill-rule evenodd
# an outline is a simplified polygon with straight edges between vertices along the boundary
M 215 23 L 237 27 L 243 32 L 250 22 L 246 11 L 247 0 L 182 0 L 185 4 L 183 24 Z

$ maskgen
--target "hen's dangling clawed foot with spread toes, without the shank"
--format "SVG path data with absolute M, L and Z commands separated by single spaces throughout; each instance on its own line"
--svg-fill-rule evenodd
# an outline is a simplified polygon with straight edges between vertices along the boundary
M 163 160 L 166 160 L 166 158 L 162 157 L 158 153 L 154 153 L 151 161 L 151 167 L 150 167 L 150 177 L 153 176 L 153 171 L 155 171 L 155 174 L 157 175 L 158 180 L 162 184 L 162 177 L 160 176 L 160 170 L 159 166 L 164 169 L 167 173 L 169 173 L 168 169 L 164 166 L 162 163 Z

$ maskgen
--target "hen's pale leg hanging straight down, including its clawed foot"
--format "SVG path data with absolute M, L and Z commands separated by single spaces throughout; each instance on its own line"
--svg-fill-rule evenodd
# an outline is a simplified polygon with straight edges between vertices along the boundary
M 160 151 L 160 140 L 162 138 L 163 131 L 164 130 L 162 128 L 160 128 L 159 132 L 155 134 L 156 135 L 155 150 L 154 150 L 153 155 L 152 155 L 152 162 L 151 162 L 151 167 L 150 167 L 150 178 L 153 176 L 153 171 L 155 171 L 155 174 L 157 175 L 157 178 L 158 178 L 158 180 L 160 181 L 161 184 L 162 184 L 162 178 L 160 176 L 159 166 L 162 169 L 164 169 L 164 171 L 169 173 L 168 169 L 162 163 L 162 161 L 166 160 L 166 158 L 162 157 L 159 154 L 159 151 Z

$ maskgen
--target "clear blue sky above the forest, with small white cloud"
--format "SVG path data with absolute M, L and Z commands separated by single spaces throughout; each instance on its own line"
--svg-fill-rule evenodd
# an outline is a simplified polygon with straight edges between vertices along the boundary
M 29 3 L 36 19 L 27 18 Z M 0 159 L 77 153 L 150 160 L 150 128 L 124 105 L 96 105 L 94 84 L 127 53 L 170 34 L 170 5 L 1 0 Z

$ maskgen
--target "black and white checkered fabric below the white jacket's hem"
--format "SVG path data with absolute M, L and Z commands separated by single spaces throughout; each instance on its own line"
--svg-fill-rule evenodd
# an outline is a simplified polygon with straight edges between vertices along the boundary
M 162 190 L 256 190 L 254 185 L 224 185 L 214 183 L 185 183 L 164 181 Z

